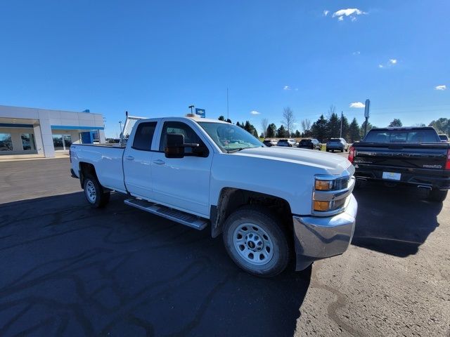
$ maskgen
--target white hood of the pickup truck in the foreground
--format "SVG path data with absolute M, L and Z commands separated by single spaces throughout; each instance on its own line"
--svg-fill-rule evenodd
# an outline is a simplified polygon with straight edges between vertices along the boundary
M 354 173 L 354 167 L 345 157 L 297 147 L 253 147 L 233 152 L 233 155 L 290 161 L 295 164 L 324 169 L 328 174 L 342 174 L 345 170 L 350 175 Z

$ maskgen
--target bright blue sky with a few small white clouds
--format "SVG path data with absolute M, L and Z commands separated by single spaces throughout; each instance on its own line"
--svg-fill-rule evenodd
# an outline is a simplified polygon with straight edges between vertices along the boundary
M 361 124 L 349 105 L 366 98 L 372 124 L 428 124 L 450 117 L 449 13 L 447 0 L 1 1 L 0 104 L 90 109 L 115 136 L 125 110 L 226 116 L 228 87 L 229 118 L 259 131 L 286 106 Z

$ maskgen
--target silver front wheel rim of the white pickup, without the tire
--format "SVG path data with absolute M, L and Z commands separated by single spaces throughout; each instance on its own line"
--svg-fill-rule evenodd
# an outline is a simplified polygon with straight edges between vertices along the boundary
M 236 227 L 233 245 L 239 256 L 252 265 L 266 265 L 274 257 L 271 237 L 254 223 L 243 223 Z

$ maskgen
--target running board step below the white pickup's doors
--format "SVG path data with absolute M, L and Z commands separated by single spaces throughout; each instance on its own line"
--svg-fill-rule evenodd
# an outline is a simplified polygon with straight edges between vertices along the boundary
M 124 203 L 129 206 L 136 207 L 136 209 L 141 209 L 142 211 L 156 214 L 157 216 L 162 216 L 162 218 L 175 221 L 176 223 L 181 223 L 182 225 L 195 228 L 195 230 L 203 230 L 203 228 L 208 225 L 208 221 L 203 218 L 193 216 L 182 211 L 177 211 L 176 209 L 169 209 L 169 207 L 154 204 L 153 202 L 146 200 L 127 199 Z

